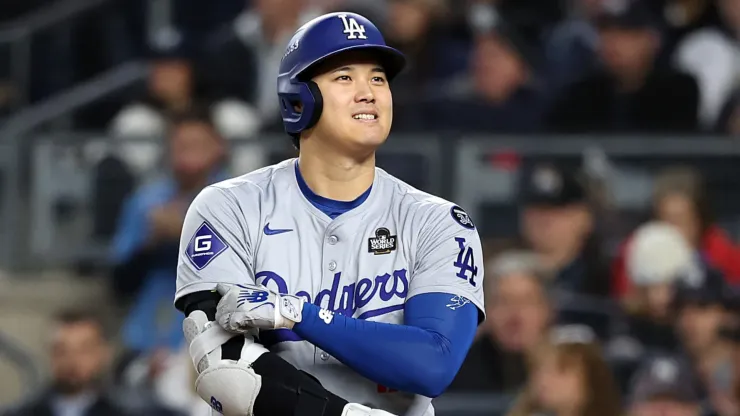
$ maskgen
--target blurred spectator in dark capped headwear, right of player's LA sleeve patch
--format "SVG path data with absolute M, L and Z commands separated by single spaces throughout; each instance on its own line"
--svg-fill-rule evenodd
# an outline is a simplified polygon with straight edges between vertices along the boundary
M 575 174 L 538 165 L 525 174 L 521 232 L 526 244 L 555 270 L 553 286 L 605 297 L 610 282 L 586 186 Z

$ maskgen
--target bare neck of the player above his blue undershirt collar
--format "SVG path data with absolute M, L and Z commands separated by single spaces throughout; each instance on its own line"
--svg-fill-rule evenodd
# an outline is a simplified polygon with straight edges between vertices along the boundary
M 313 143 L 308 140 L 301 143 L 298 163 L 303 179 L 314 193 L 335 201 L 352 201 L 373 184 L 374 152 L 352 158 Z

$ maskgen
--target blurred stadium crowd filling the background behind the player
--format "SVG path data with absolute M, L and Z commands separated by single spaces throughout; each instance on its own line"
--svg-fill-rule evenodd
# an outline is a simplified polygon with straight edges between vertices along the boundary
M 3 414 L 207 412 L 172 307 L 183 216 L 208 183 L 294 155 L 287 136 L 275 139 L 277 66 L 300 24 L 341 9 L 378 22 L 410 58 L 392 85 L 390 141 L 421 137 L 428 144 L 411 147 L 443 149 L 441 170 L 404 154 L 381 155 L 380 165 L 449 199 L 513 183 L 504 202 L 466 206 L 486 241 L 488 319 L 435 400 L 437 414 L 740 416 L 740 0 L 3 0 L 0 8 L 0 146 L 15 142 L 12 166 L 31 177 L 9 194 L 29 213 L 18 220 L 29 235 L 18 241 L 41 241 L 51 256 L 82 239 L 103 253 L 39 255 L 31 272 L 0 279 L 8 293 L 0 303 L 26 296 L 21 285 L 29 302 L 61 300 L 31 328 L 13 323 L 22 312 L 0 316 L 0 341 L 17 340 L 48 364 L 41 385 L 0 381 L 0 391 L 18 392 L 0 394 Z M 76 8 L 84 12 L 68 13 Z M 40 27 L 46 17 L 33 16 L 44 13 L 63 16 L 62 29 L 35 30 L 26 43 L 18 39 L 27 35 L 3 37 Z M 146 63 L 141 79 L 97 94 L 112 70 L 135 62 Z M 85 94 L 85 105 L 45 117 Z M 39 114 L 44 122 L 17 127 Z M 32 137 L 41 136 L 52 150 L 84 154 L 89 210 L 76 214 L 89 224 L 84 236 L 57 224 L 75 215 L 74 201 L 35 197 L 34 184 L 51 194 L 71 181 L 49 168 L 68 154 L 37 159 Z M 498 151 L 460 158 L 462 136 Z M 507 150 L 519 141 L 528 153 Z M 482 171 L 494 175 L 452 177 Z M 447 185 L 434 185 L 431 172 L 450 176 Z M 36 221 L 45 210 L 61 240 Z M 14 276 L 51 268 L 64 271 L 61 286 Z M 93 302 L 72 297 L 91 286 L 100 287 Z

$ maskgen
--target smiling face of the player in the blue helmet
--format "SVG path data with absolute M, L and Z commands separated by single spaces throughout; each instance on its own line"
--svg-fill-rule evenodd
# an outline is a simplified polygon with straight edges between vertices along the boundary
M 367 54 L 347 53 L 313 78 L 324 107 L 311 135 L 334 148 L 374 151 L 388 138 L 393 98 L 385 71 Z

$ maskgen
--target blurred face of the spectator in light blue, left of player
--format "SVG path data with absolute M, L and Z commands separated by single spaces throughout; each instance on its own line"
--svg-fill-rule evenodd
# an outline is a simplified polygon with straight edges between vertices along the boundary
M 223 156 L 224 148 L 212 126 L 188 121 L 174 127 L 169 151 L 175 176 L 190 184 L 205 180 Z

